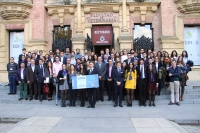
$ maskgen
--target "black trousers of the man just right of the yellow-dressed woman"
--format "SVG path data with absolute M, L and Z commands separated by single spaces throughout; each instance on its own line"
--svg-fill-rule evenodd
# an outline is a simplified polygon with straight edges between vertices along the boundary
M 147 89 L 146 89 L 146 79 L 138 79 L 139 80 L 139 103 L 146 104 L 146 96 L 147 96 Z

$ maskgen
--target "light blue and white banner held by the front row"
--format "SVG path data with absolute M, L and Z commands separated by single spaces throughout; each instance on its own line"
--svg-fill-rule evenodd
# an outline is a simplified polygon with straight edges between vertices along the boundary
M 98 74 L 72 77 L 72 89 L 98 88 Z

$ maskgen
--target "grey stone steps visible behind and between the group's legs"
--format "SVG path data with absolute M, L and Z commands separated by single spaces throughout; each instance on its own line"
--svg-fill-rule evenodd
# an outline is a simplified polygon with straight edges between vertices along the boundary
M 55 100 L 48 101 L 43 100 L 40 102 L 39 100 L 21 100 L 19 99 L 19 88 L 16 95 L 8 95 L 9 93 L 9 86 L 5 86 L 3 84 L 0 86 L 0 103 L 7 103 L 7 104 L 55 104 Z M 55 99 L 55 95 L 53 97 Z M 108 96 L 105 94 L 104 102 L 98 101 L 97 105 L 113 105 L 112 101 L 107 101 Z M 155 103 L 156 105 L 167 105 L 170 100 L 170 88 L 165 88 L 161 90 L 161 95 L 156 96 Z M 68 103 L 68 101 L 67 101 Z M 58 102 L 60 104 L 60 102 Z M 86 101 L 86 105 L 88 101 Z M 187 86 L 185 86 L 185 94 L 184 94 L 184 101 L 180 101 L 180 104 L 200 104 L 200 82 L 198 81 L 188 81 Z M 76 105 L 80 105 L 80 101 L 77 100 Z M 123 101 L 123 105 L 126 105 L 126 101 Z M 134 100 L 133 105 L 138 105 L 138 101 Z

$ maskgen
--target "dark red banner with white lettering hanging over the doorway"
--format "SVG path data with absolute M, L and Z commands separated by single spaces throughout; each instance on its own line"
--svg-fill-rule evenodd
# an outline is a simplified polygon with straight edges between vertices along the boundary
M 111 45 L 112 34 L 112 26 L 92 26 L 92 44 Z

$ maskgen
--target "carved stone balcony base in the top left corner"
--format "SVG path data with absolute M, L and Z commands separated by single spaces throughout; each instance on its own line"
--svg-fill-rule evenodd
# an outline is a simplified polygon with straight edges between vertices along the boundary
M 30 14 L 31 0 L 0 0 L 0 15 L 7 20 L 25 19 Z

